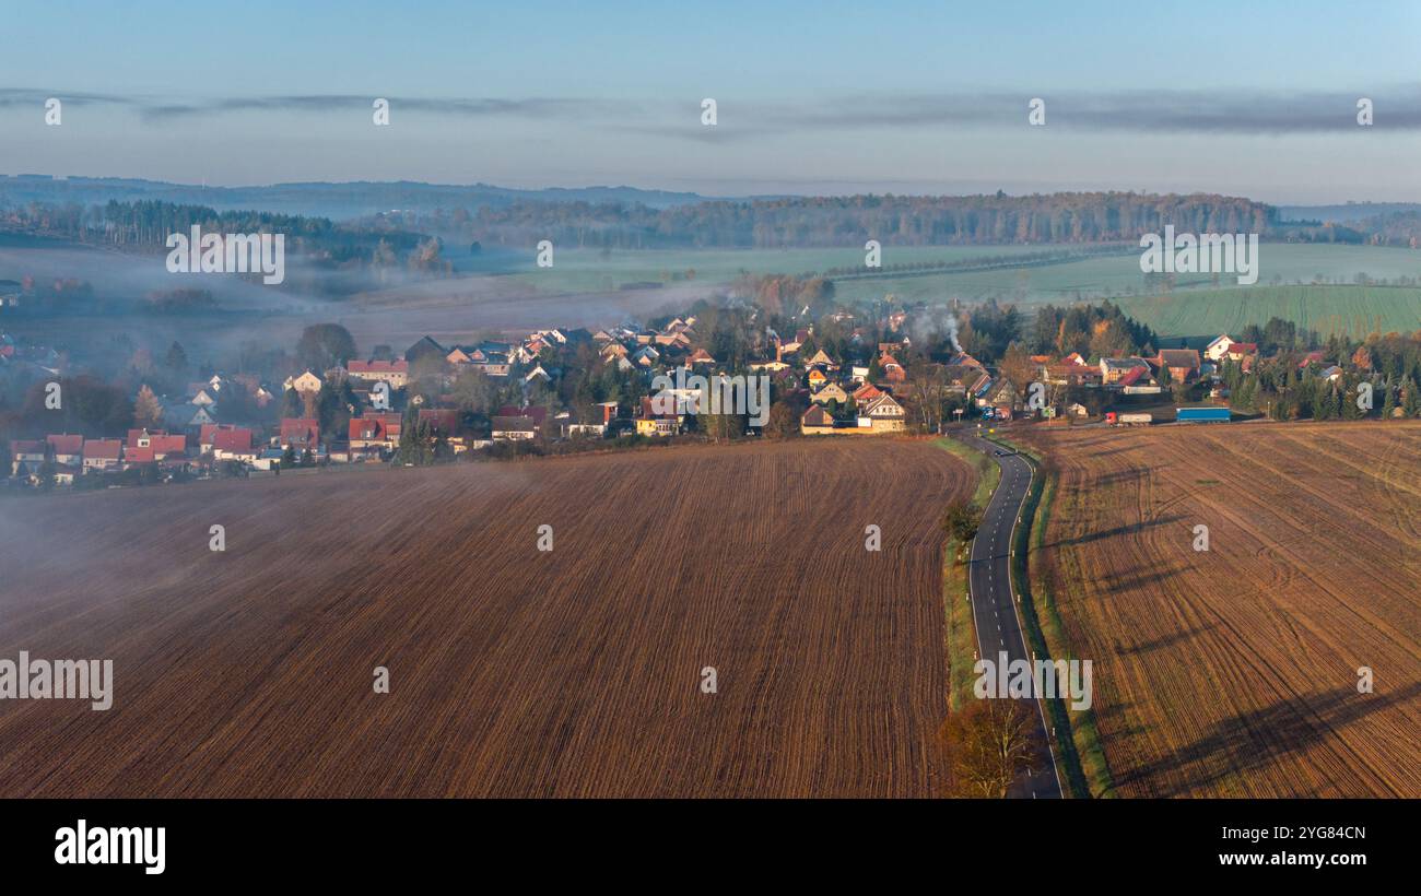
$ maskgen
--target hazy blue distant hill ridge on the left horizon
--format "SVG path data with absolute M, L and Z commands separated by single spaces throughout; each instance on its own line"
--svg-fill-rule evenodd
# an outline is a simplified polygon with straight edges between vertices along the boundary
M 219 212 L 257 209 L 280 214 L 303 214 L 347 220 L 382 212 L 432 212 L 435 209 L 500 209 L 522 202 L 627 203 L 651 209 L 705 202 L 696 193 L 639 190 L 630 186 L 551 187 L 520 190 L 475 185 L 439 185 L 414 180 L 350 183 L 274 183 L 270 186 L 199 186 L 135 180 L 128 177 L 50 177 L 47 175 L 0 175 L 0 207 L 31 202 L 45 204 L 105 204 L 109 200 L 161 200 L 199 204 Z

